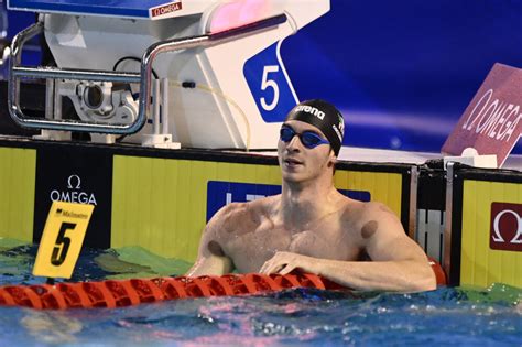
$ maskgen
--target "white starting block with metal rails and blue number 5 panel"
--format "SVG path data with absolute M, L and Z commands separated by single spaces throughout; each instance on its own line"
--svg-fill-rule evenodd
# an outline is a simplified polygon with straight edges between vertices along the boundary
M 329 0 L 10 0 L 41 13 L 12 42 L 8 106 L 40 129 L 160 148 L 271 149 L 298 102 L 281 43 Z M 21 65 L 43 33 L 56 67 Z M 45 118 L 20 106 L 20 80 L 45 79 Z M 63 109 L 65 98 L 75 117 Z M 253 131 L 255 130 L 255 131 Z

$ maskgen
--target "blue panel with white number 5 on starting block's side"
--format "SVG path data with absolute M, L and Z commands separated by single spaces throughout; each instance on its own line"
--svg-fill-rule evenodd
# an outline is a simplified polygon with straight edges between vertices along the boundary
M 281 122 L 298 101 L 284 69 L 281 41 L 250 57 L 243 75 L 259 112 L 265 122 Z

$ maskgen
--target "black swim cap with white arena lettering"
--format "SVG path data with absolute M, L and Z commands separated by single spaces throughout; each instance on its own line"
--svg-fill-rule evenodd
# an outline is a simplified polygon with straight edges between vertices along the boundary
M 330 142 L 335 155 L 339 154 L 345 134 L 345 120 L 334 105 L 314 99 L 297 104 L 286 116 L 286 120 L 300 120 L 323 131 Z

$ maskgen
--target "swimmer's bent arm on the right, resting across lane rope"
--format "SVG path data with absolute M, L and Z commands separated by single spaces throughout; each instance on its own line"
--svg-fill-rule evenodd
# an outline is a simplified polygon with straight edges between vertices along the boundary
M 406 236 L 393 213 L 381 204 L 369 204 L 360 225 L 360 240 L 372 261 L 315 259 L 278 252 L 260 272 L 286 274 L 301 269 L 355 290 L 416 292 L 436 288 L 426 254 Z

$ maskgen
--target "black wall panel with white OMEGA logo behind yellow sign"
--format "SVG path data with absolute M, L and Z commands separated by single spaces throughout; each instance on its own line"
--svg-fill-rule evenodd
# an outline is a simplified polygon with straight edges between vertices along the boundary
M 44 147 L 36 154 L 33 241 L 40 242 L 54 200 L 95 206 L 84 245 L 109 248 L 112 153 L 102 148 Z

